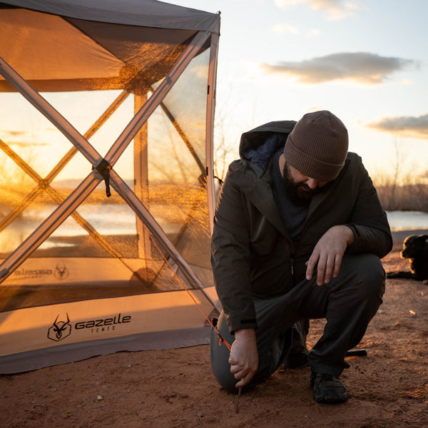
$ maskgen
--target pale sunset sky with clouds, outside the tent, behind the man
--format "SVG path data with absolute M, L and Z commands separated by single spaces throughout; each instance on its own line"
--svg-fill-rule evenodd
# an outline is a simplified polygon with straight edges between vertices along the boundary
M 330 110 L 370 175 L 428 178 L 428 1 L 170 0 L 220 11 L 216 140 Z

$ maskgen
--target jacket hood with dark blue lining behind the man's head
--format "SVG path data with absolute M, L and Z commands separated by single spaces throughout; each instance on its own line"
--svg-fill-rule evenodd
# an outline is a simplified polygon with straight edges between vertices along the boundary
M 274 121 L 243 133 L 239 146 L 240 158 L 265 171 L 273 153 L 285 145 L 288 134 L 296 123 L 296 121 Z

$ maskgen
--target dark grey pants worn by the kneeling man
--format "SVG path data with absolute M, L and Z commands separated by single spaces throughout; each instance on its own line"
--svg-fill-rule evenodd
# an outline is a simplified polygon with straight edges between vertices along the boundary
M 338 376 L 349 367 L 347 350 L 365 335 L 367 325 L 382 304 L 385 273 L 377 256 L 345 255 L 340 274 L 330 283 L 316 284 L 302 280 L 287 294 L 272 299 L 255 299 L 258 323 L 256 338 L 259 365 L 247 387 L 265 381 L 277 370 L 292 346 L 292 325 L 300 320 L 325 318 L 322 337 L 309 353 L 312 372 Z M 233 344 L 224 313 L 218 318 L 217 329 L 225 341 Z M 229 350 L 220 344 L 217 333 L 211 335 L 211 367 L 218 383 L 230 392 L 237 392 L 237 379 L 230 373 Z M 247 388 L 245 387 L 245 388 Z

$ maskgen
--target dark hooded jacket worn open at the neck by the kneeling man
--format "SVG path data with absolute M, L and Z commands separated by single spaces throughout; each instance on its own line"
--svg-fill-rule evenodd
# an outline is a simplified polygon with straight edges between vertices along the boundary
M 220 194 L 211 264 L 231 332 L 257 327 L 253 297 L 282 295 L 305 278 L 305 263 L 332 226 L 352 228 L 355 240 L 347 253 L 382 258 L 392 248 L 387 216 L 355 153 L 348 153 L 337 178 L 312 198 L 300 242 L 292 243 L 273 199 L 270 158 L 294 125 L 271 122 L 243 134 L 240 160 L 230 164 Z

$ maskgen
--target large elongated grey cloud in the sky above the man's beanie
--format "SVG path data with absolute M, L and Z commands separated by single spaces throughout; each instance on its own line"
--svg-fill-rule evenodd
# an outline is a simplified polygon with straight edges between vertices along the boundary
M 358 83 L 379 84 L 396 71 L 416 61 L 370 54 L 369 52 L 342 52 L 300 62 L 281 61 L 275 65 L 263 63 L 267 73 L 282 73 L 302 83 L 352 80 Z

